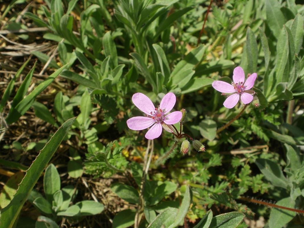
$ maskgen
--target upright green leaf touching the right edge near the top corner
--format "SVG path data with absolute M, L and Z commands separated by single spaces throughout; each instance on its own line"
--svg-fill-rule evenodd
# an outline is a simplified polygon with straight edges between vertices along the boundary
M 303 44 L 303 35 L 304 35 L 304 20 L 303 16 L 297 14 L 294 21 L 292 22 L 291 32 L 295 40 L 295 53 L 298 54 L 302 44 Z

